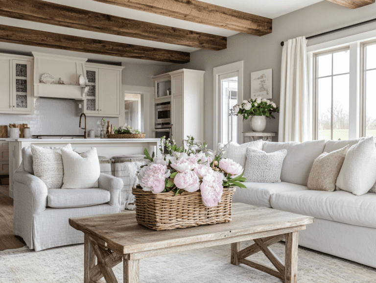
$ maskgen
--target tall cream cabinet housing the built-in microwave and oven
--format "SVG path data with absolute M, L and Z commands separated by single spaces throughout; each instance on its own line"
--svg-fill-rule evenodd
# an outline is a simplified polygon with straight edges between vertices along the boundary
M 171 139 L 178 146 L 187 136 L 204 140 L 204 73 L 181 69 L 153 77 L 155 82 L 171 81 Z M 166 98 L 158 97 L 158 89 L 155 92 L 156 102 Z

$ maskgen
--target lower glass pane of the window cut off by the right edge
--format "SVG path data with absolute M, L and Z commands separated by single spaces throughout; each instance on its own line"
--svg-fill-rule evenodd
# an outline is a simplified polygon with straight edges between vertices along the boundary
M 376 70 L 366 71 L 366 137 L 376 136 Z

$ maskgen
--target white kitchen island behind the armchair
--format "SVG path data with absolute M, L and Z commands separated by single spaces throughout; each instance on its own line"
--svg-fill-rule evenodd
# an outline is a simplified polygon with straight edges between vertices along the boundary
M 100 139 L 100 138 L 69 138 L 69 139 L 7 139 L 9 142 L 9 196 L 13 198 L 13 174 L 22 161 L 22 148 L 30 144 L 38 146 L 63 146 L 71 143 L 76 152 L 85 152 L 96 147 L 99 156 L 113 157 L 120 155 L 143 154 L 147 148 L 159 154 L 160 139 Z

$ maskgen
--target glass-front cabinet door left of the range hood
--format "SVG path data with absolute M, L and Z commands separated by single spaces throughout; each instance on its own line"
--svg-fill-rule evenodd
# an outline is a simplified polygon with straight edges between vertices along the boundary
M 31 62 L 12 60 L 12 108 L 17 112 L 31 112 Z

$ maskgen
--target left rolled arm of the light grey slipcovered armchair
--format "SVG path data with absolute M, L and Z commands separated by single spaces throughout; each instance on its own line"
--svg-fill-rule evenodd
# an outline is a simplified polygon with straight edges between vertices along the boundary
M 26 171 L 16 171 L 13 178 L 15 205 L 30 205 L 32 214 L 43 212 L 47 206 L 46 184 Z

